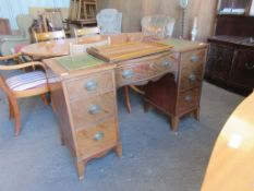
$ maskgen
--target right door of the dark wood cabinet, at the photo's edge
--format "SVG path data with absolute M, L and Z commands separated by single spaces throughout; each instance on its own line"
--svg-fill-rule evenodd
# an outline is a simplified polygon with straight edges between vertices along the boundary
M 235 50 L 229 83 L 242 87 L 254 87 L 254 50 L 247 48 Z

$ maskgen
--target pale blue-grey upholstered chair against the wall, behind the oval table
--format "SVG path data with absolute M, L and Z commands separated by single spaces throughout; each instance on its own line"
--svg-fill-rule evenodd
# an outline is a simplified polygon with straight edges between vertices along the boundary
M 116 9 L 104 9 L 97 16 L 100 34 L 120 34 L 122 28 L 122 13 Z

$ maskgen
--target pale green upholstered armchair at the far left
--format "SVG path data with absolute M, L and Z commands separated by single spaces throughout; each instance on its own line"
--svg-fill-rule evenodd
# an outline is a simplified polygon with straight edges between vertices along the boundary
M 20 35 L 0 36 L 0 51 L 2 56 L 13 53 L 16 46 L 29 44 L 29 27 L 33 24 L 33 21 L 34 19 L 29 14 L 20 14 L 16 16 Z

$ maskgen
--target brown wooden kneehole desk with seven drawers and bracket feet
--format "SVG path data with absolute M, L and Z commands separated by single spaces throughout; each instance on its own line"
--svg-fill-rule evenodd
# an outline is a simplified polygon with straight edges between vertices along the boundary
M 112 43 L 142 37 L 138 33 L 116 35 Z M 117 87 L 149 82 L 145 86 L 146 108 L 155 106 L 169 115 L 174 131 L 181 116 L 194 111 L 198 118 L 206 45 L 177 39 L 166 43 L 173 44 L 174 48 L 90 69 L 68 71 L 57 58 L 44 60 L 47 73 L 53 73 L 57 79 L 50 83 L 52 104 L 62 141 L 75 158 L 80 179 L 84 178 L 87 160 L 112 148 L 121 156 Z M 165 77 L 159 80 L 161 75 Z

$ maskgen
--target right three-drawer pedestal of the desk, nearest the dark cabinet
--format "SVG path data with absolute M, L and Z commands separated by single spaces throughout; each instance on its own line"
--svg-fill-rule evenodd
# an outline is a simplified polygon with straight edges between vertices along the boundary
M 170 117 L 171 129 L 178 130 L 179 119 L 186 114 L 199 118 L 199 99 L 207 45 L 171 39 L 171 56 L 177 62 L 176 72 L 145 85 L 145 110 L 150 106 Z M 172 62 L 172 61 L 171 61 Z M 173 64 L 173 62 L 171 63 Z

